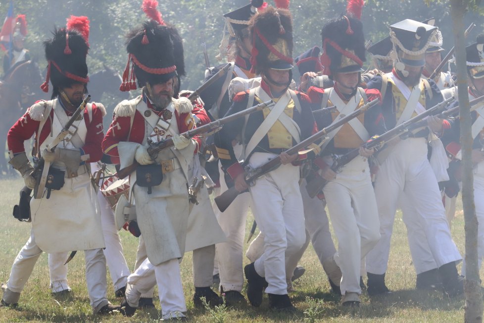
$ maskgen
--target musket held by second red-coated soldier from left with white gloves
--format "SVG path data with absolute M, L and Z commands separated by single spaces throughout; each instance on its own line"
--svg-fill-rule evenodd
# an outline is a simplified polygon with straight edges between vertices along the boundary
M 252 112 L 255 111 L 261 111 L 263 108 L 268 108 L 274 106 L 275 103 L 272 100 L 262 102 L 252 108 L 248 108 L 242 111 L 239 111 L 237 113 L 228 115 L 224 118 L 212 121 L 210 123 L 204 124 L 200 127 L 194 128 L 192 130 L 186 131 L 184 133 L 181 133 L 180 136 L 184 136 L 186 138 L 192 138 L 201 134 L 205 133 L 213 133 L 217 132 L 220 129 L 222 129 L 222 126 L 228 122 L 234 121 L 238 118 L 241 118 L 243 116 L 246 116 Z M 148 146 L 148 154 L 151 156 L 151 159 L 154 161 L 156 160 L 156 157 L 158 157 L 158 153 L 161 152 L 164 149 L 170 148 L 173 146 L 173 139 L 172 138 L 166 138 L 160 142 L 157 143 L 151 143 Z M 133 171 L 135 171 L 136 167 L 138 167 L 138 162 L 135 160 L 133 163 L 127 167 L 124 167 L 123 169 L 120 169 L 116 174 L 118 175 L 119 178 L 123 179 L 129 174 L 131 174 Z

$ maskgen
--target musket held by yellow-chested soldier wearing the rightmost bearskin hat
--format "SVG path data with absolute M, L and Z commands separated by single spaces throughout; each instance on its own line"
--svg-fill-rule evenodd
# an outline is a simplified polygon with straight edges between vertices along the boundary
M 425 112 L 422 112 L 413 118 L 400 123 L 396 127 L 394 127 L 391 130 L 388 130 L 384 134 L 373 138 L 372 140 L 364 143 L 361 147 L 366 148 L 366 149 L 373 149 L 373 148 L 379 148 L 383 147 L 385 143 L 388 141 L 391 141 L 395 137 L 401 136 L 405 133 L 408 133 L 412 130 L 415 130 L 417 128 L 421 128 L 422 126 L 427 126 L 427 120 L 423 120 L 425 117 L 429 115 L 438 115 L 441 116 L 441 112 L 445 107 L 447 107 L 452 101 L 454 101 L 454 97 L 450 97 L 447 100 L 444 100 L 437 104 L 436 106 L 426 110 Z M 458 108 L 458 107 L 457 107 Z M 449 109 L 454 110 L 455 108 Z M 455 110 L 454 110 L 455 111 Z M 440 113 L 440 114 L 439 114 Z M 415 126 L 415 125 L 420 125 L 421 122 L 424 124 L 421 126 Z M 342 156 L 333 156 L 333 165 L 331 166 L 331 170 L 334 172 L 339 172 L 341 167 L 346 165 L 348 162 L 351 162 L 354 158 L 356 158 L 359 155 L 359 149 L 355 148 L 347 152 L 346 154 Z M 307 181 L 306 184 L 306 191 L 308 195 L 311 198 L 314 198 L 318 193 L 323 189 L 323 187 L 328 183 L 328 180 L 324 179 L 321 175 L 318 174 L 316 171 L 312 171 L 310 173 L 310 176 L 308 176 L 306 179 L 311 178 L 310 180 Z

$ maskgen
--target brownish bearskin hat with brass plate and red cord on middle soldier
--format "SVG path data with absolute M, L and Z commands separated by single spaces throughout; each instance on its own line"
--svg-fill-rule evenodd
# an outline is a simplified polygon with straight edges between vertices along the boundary
M 250 20 L 250 36 L 252 73 L 292 68 L 292 17 L 288 9 L 269 6 L 257 12 Z

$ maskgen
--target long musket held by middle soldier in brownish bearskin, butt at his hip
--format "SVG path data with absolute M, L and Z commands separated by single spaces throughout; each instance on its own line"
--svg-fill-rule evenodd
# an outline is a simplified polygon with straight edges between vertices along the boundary
M 314 135 L 304 139 L 297 145 L 292 146 L 290 149 L 285 151 L 288 155 L 297 154 L 300 150 L 305 149 L 310 144 L 314 143 L 315 141 L 324 138 L 323 140 L 328 140 L 328 134 L 335 129 L 338 129 L 340 126 L 345 124 L 346 122 L 354 119 L 361 113 L 367 111 L 369 108 L 372 108 L 379 100 L 373 100 L 366 105 L 362 106 L 354 110 L 353 112 L 347 115 L 339 115 L 339 120 L 333 122 L 331 125 L 325 127 L 324 129 L 318 131 Z M 257 178 L 260 176 L 270 172 L 271 170 L 276 169 L 281 165 L 281 155 L 276 156 L 275 158 L 271 159 L 268 162 L 265 162 L 261 166 L 254 168 L 254 169 L 247 169 L 244 175 L 244 179 L 249 185 L 253 184 Z M 215 198 L 215 204 L 217 205 L 220 212 L 224 212 L 230 206 L 230 204 L 235 200 L 235 198 L 241 194 L 242 192 L 238 191 L 235 186 L 232 186 L 230 189 L 225 191 L 224 193 L 220 194 Z

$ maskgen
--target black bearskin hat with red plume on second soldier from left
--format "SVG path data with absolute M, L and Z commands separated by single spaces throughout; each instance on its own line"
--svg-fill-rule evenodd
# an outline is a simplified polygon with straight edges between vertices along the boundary
M 143 10 L 151 19 L 127 36 L 126 50 L 129 57 L 121 91 L 136 89 L 136 79 L 141 88 L 146 83 L 165 83 L 174 76 L 185 76 L 182 38 L 175 27 L 161 19 L 157 5 L 156 0 L 143 1 Z

